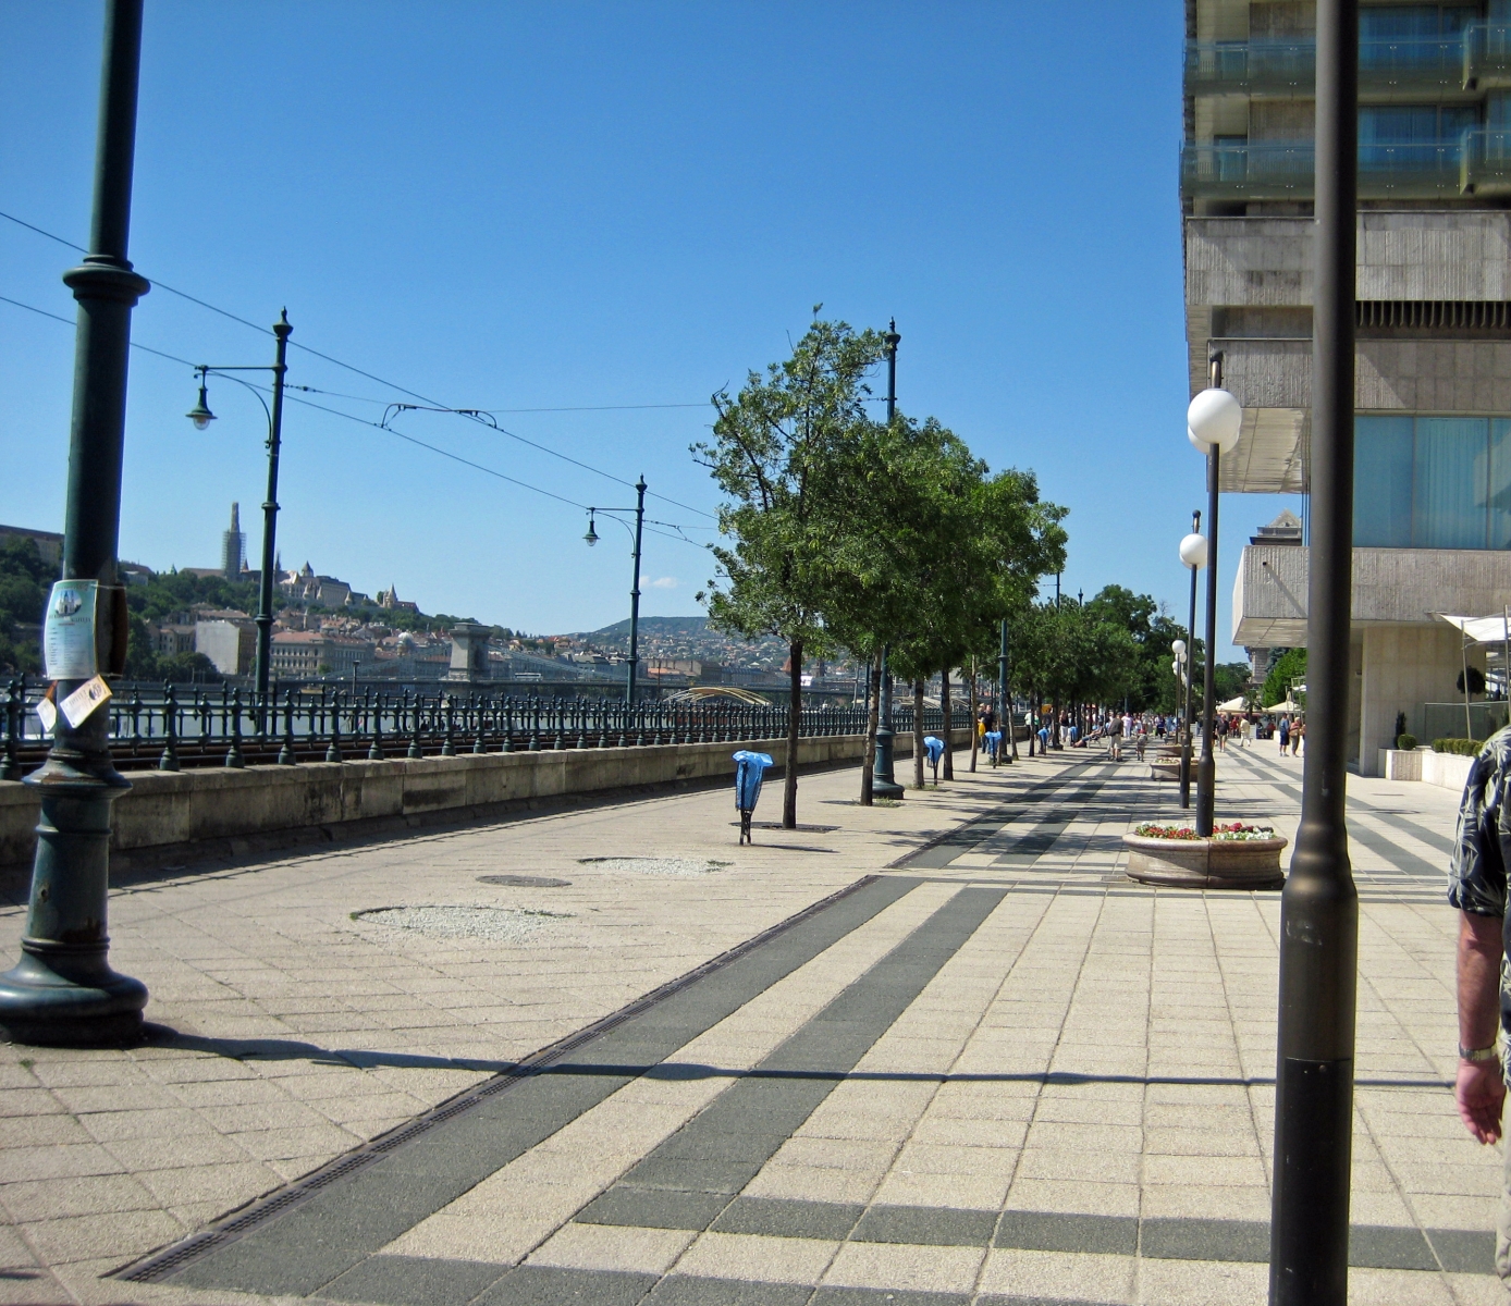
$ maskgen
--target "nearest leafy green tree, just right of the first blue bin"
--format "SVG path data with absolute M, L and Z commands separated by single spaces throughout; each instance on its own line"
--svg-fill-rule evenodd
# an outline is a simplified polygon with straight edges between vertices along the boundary
M 713 439 L 694 457 L 724 492 L 712 551 L 721 575 L 700 599 L 710 624 L 745 639 L 787 645 L 792 719 L 787 731 L 781 823 L 798 823 L 798 725 L 802 663 L 833 646 L 825 613 L 834 596 L 848 524 L 843 468 L 870 426 L 866 377 L 882 358 L 873 331 L 817 319 L 784 362 L 749 373 L 737 396 L 713 396 Z

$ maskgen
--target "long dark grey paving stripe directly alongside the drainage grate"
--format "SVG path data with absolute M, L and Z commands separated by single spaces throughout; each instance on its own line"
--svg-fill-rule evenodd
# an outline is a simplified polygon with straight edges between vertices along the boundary
M 833 947 L 917 883 L 907 876 L 879 877 L 819 910 L 799 913 L 795 924 L 775 935 L 768 932 L 760 936 L 765 942 L 719 969 L 700 968 L 704 972 L 694 983 L 668 986 L 668 996 L 647 1010 L 621 1024 L 601 1022 L 609 1028 L 580 1048 L 582 1060 L 591 1055 L 594 1063 L 585 1073 L 573 1073 L 576 1054 L 568 1054 L 550 1066 L 550 1073 L 511 1081 L 508 1092 L 476 1098 L 474 1090 L 476 1101 L 468 1099 L 461 1114 L 334 1179 L 234 1241 L 195 1255 L 204 1246 L 196 1240 L 205 1237 L 196 1235 L 181 1244 L 192 1258 L 186 1258 L 187 1264 L 174 1259 L 181 1252 L 169 1250 L 122 1277 L 263 1294 L 314 1292 Z M 604 1064 L 624 1069 L 598 1073 Z M 781 1132 L 780 1119 L 772 1125 L 772 1132 Z M 153 1271 L 154 1264 L 162 1268 Z

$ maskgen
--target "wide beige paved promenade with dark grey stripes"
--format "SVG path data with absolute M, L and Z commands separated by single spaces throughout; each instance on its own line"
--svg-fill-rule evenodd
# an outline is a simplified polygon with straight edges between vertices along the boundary
M 1120 835 L 1179 815 L 1145 775 L 863 809 L 845 770 L 752 849 L 716 791 L 128 879 L 162 1028 L 0 1046 L 0 1301 L 1262 1303 L 1278 894 L 1129 882 Z M 1219 815 L 1289 835 L 1299 776 L 1230 749 Z M 1505 1301 L 1455 803 L 1349 781 L 1355 1303 Z

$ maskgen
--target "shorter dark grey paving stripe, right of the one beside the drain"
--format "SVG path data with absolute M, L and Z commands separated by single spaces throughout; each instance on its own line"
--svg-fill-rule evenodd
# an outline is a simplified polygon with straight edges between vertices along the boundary
M 650 1209 L 660 1227 L 677 1227 L 666 1224 L 677 1212 L 688 1220 L 680 1227 L 709 1227 L 718 1212 L 704 1215 L 703 1203 L 677 1199 L 721 1194 L 722 1211 L 1005 897 L 1006 889 L 961 889 L 771 1052 L 754 1075 L 730 1084 L 576 1218 L 639 1224 L 641 1212 Z

